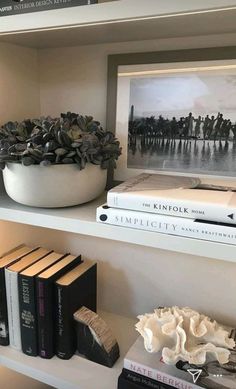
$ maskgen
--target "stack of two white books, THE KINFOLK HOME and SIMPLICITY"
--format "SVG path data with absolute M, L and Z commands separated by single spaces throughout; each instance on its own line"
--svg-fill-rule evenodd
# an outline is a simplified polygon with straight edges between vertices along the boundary
M 142 173 L 108 192 L 97 221 L 236 244 L 236 185 Z

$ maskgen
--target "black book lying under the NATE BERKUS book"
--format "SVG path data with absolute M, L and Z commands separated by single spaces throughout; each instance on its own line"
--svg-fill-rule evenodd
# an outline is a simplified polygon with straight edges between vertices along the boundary
M 143 389 L 171 389 L 173 386 L 164 384 L 162 382 L 158 382 L 153 380 L 152 378 L 145 377 L 142 374 L 135 373 L 134 371 L 130 371 L 128 369 L 123 369 L 119 378 L 122 382 L 125 380 L 128 384 L 130 384 L 130 388 L 143 388 Z M 129 386 L 128 386 L 129 387 Z M 127 387 L 127 388 L 128 388 Z M 118 389 L 123 389 L 123 386 L 118 385 Z

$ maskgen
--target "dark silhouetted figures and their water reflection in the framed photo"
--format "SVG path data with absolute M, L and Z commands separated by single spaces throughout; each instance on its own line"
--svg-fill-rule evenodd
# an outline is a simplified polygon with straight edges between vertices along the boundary
M 162 114 L 134 117 L 128 128 L 131 168 L 205 170 L 231 175 L 236 163 L 236 123 L 223 113 L 167 118 Z

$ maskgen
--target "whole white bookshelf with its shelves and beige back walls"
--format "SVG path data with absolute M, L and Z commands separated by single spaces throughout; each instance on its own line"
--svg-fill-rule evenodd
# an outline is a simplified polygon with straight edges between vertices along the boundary
M 88 105 L 105 121 L 107 55 L 230 46 L 235 20 L 235 0 L 118 0 L 0 17 L 1 123 L 58 114 L 67 104 L 74 110 L 75 101 L 78 109 L 87 112 Z M 91 44 L 92 50 L 86 46 Z M 77 355 L 69 361 L 43 360 L 1 347 L 1 365 L 58 389 L 116 389 L 122 357 L 137 336 L 136 313 L 147 306 L 181 304 L 188 294 L 187 304 L 194 308 L 219 313 L 222 322 L 236 319 L 236 246 L 96 223 L 96 207 L 105 201 L 106 194 L 79 207 L 38 209 L 17 204 L 3 191 L 0 243 L 3 252 L 12 242 L 14 223 L 15 243 L 17 233 L 28 244 L 52 244 L 52 238 L 53 244 L 60 241 L 58 250 L 65 244 L 98 258 L 103 305 L 116 313 L 125 307 L 133 316 L 104 316 L 118 338 L 121 358 L 109 369 Z

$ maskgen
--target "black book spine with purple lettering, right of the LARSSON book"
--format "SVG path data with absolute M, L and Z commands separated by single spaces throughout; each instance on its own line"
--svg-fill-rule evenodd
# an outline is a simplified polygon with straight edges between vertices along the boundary
M 42 358 L 52 358 L 54 355 L 53 334 L 53 296 L 52 285 L 36 279 L 36 301 L 38 318 L 38 351 Z

